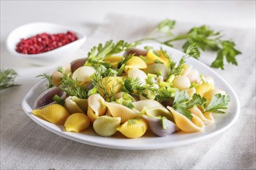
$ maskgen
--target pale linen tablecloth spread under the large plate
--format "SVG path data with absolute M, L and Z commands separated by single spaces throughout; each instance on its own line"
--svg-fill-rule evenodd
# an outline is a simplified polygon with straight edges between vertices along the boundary
M 74 58 L 86 56 L 92 46 L 109 39 L 128 42 L 143 38 L 157 23 L 128 15 L 108 15 Z M 178 22 L 175 33 L 186 32 L 194 23 Z M 1 91 L 1 168 L 2 169 L 254 169 L 255 168 L 255 30 L 213 26 L 225 38 L 233 39 L 242 54 L 238 66 L 215 70 L 230 83 L 240 100 L 237 122 L 213 138 L 191 145 L 149 151 L 99 148 L 61 138 L 41 128 L 22 110 L 22 98 L 38 81 L 20 76 L 19 87 Z M 181 43 L 175 47 L 180 48 Z M 210 64 L 215 53 L 202 53 Z M 71 59 L 72 60 L 72 59 Z M 20 70 L 26 73 L 26 70 Z M 52 70 L 49 70 L 52 71 Z

